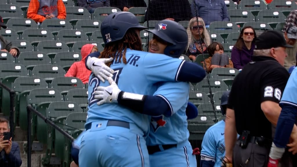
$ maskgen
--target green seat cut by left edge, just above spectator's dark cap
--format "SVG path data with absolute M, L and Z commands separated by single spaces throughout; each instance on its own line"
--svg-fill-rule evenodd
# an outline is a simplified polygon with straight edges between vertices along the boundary
M 21 8 L 15 4 L 1 4 L 0 15 L 2 16 L 4 23 L 10 18 L 24 18 L 24 13 Z

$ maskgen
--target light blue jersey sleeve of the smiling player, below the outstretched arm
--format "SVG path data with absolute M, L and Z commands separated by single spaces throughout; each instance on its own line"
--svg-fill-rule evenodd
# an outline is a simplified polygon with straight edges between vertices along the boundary
M 164 114 L 169 117 L 176 113 L 185 103 L 189 95 L 189 83 L 187 82 L 164 82 L 154 96 L 162 97 L 170 106 L 170 112 Z

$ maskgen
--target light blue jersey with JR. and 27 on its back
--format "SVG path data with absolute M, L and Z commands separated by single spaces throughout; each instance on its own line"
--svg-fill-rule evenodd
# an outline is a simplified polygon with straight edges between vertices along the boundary
M 157 90 L 157 82 L 174 82 L 177 80 L 180 68 L 184 61 L 174 59 L 164 54 L 148 53 L 127 49 L 127 64 L 121 59 L 115 59 L 111 68 L 115 71 L 113 80 L 119 89 L 124 92 L 153 95 Z M 121 61 L 121 62 L 119 62 Z M 97 105 L 99 100 L 94 98 L 97 86 L 109 86 L 100 82 L 91 74 L 89 78 L 89 111 L 86 124 L 100 119 L 119 120 L 136 124 L 145 134 L 149 130 L 150 116 L 131 112 L 128 108 L 117 103 Z

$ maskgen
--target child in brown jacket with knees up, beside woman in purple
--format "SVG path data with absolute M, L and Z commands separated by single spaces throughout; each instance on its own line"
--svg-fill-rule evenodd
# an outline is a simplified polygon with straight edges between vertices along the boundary
M 210 73 L 212 69 L 218 67 L 233 68 L 233 63 L 229 57 L 224 54 L 223 45 L 219 42 L 213 42 L 208 46 L 209 57 L 205 59 L 206 64 L 203 63 L 204 69 L 206 65 L 206 71 Z

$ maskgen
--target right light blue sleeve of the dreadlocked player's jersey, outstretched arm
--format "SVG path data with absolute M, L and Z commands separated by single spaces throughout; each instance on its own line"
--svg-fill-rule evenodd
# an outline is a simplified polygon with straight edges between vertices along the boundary
M 151 82 L 177 81 L 183 60 L 164 54 L 148 53 L 143 58 L 144 74 Z

